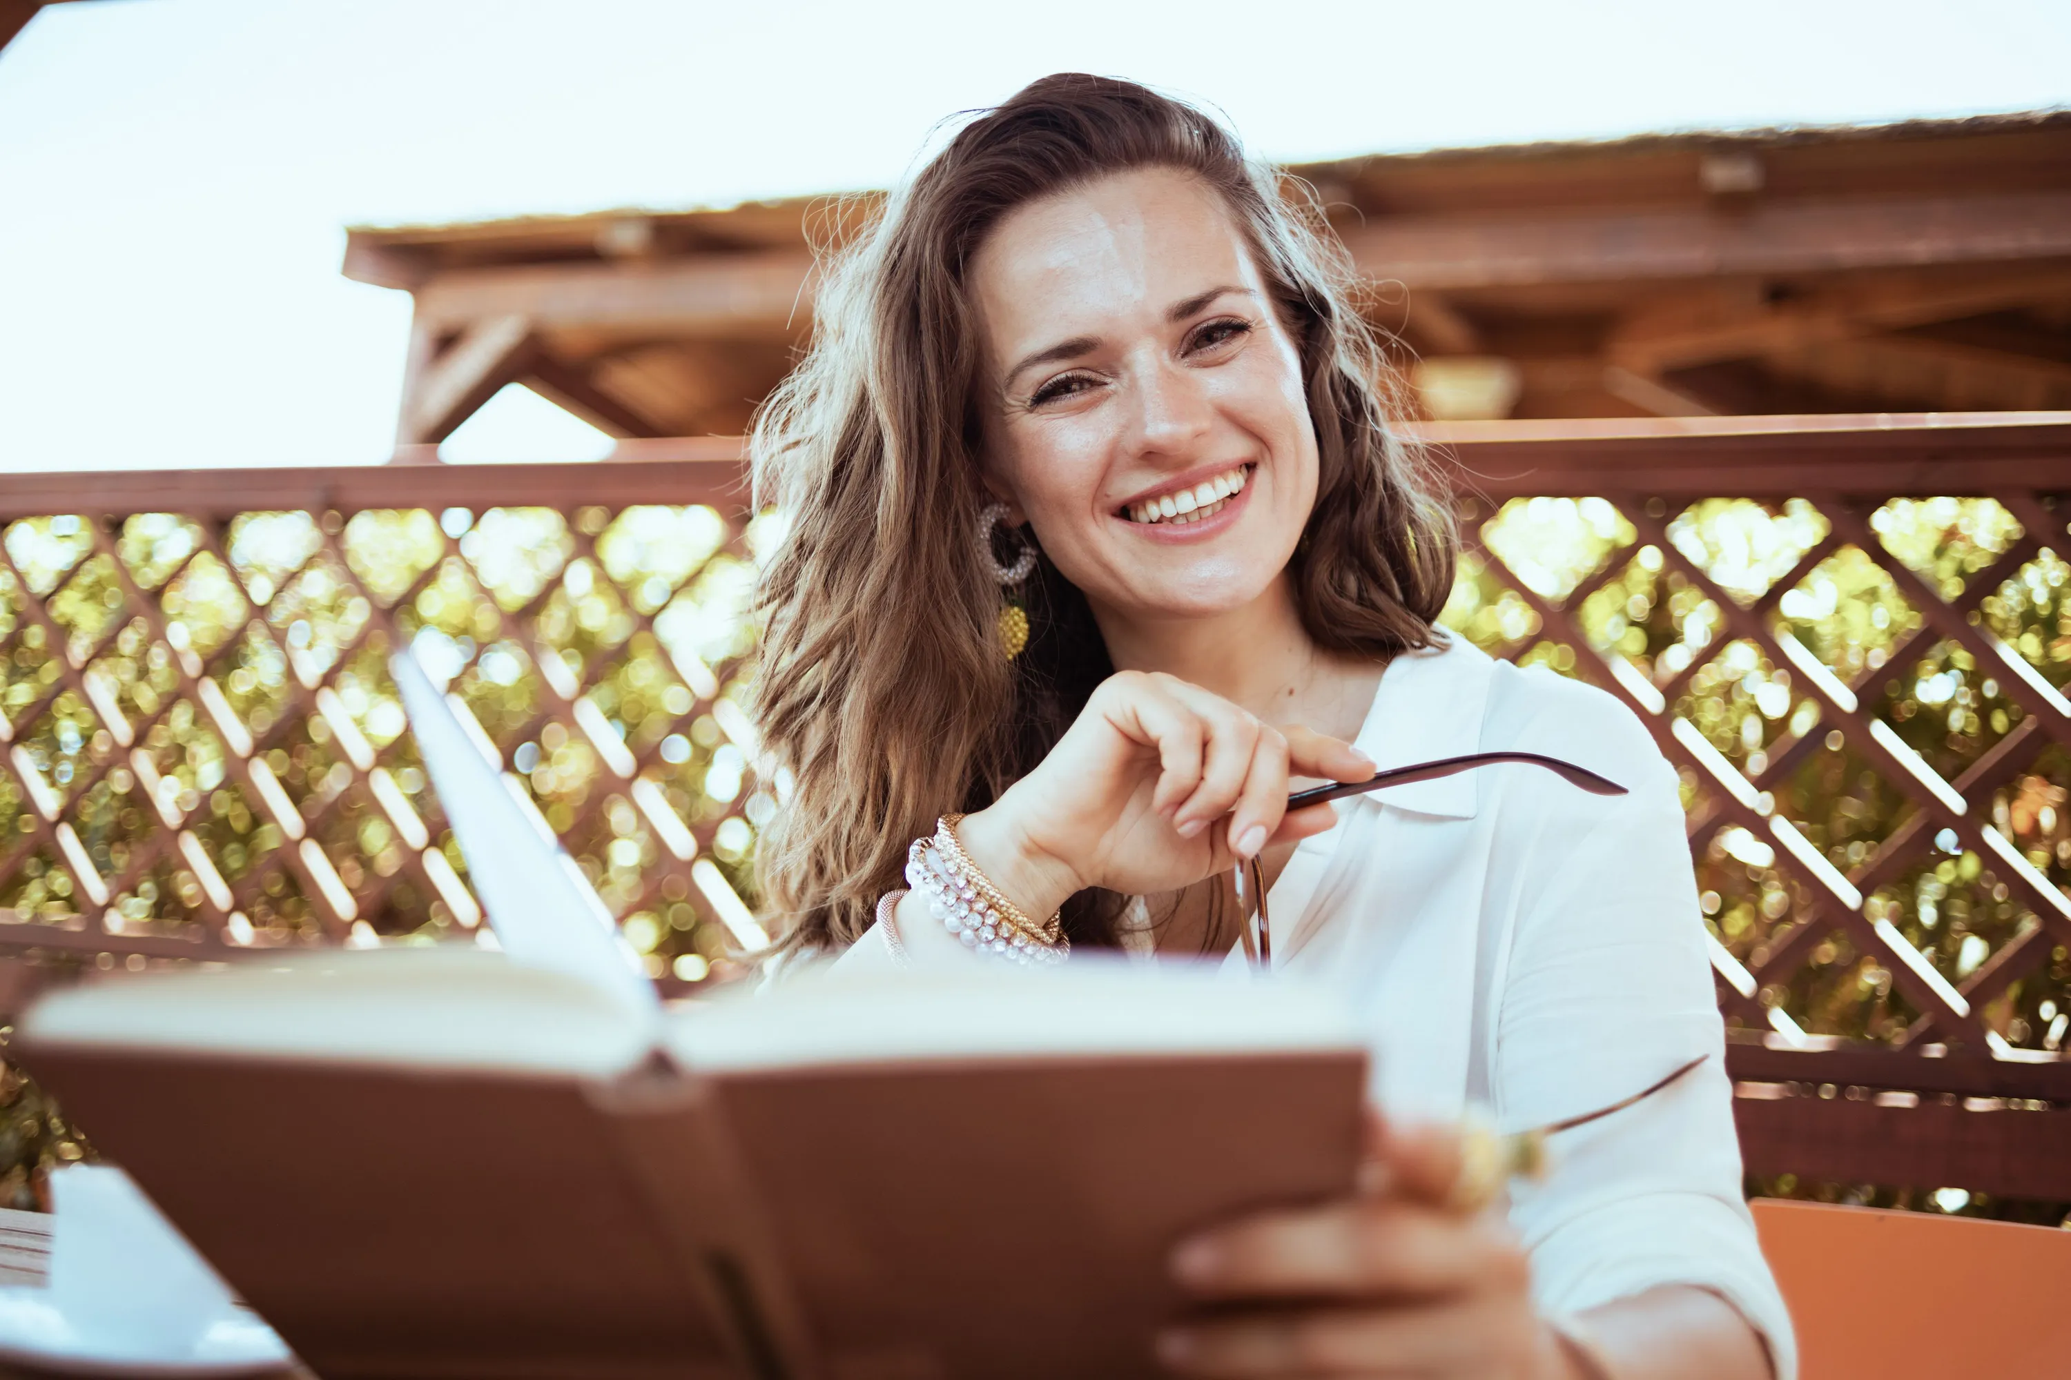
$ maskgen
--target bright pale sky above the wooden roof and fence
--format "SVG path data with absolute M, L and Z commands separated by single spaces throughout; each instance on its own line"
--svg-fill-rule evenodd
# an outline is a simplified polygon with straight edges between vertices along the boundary
M 410 304 L 344 226 L 884 186 L 1062 68 L 1315 159 L 2067 106 L 2071 4 L 60 4 L 0 54 L 0 470 L 377 461 Z M 596 447 L 509 391 L 449 449 Z

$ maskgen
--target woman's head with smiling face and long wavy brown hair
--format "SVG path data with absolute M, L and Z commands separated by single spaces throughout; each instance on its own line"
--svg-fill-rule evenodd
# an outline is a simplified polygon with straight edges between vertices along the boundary
M 911 828 L 1027 776 L 1114 670 L 1199 679 L 1118 646 L 1143 631 L 1125 606 L 1236 610 L 1222 652 L 1313 650 L 1352 679 L 1323 685 L 1340 730 L 1388 656 L 1431 643 L 1452 515 L 1388 426 L 1392 374 L 1319 223 L 1199 112 L 1054 77 L 973 122 L 833 265 L 814 348 L 752 443 L 758 501 L 793 515 L 758 674 L 797 778 L 758 875 L 793 946 L 862 935 Z M 1236 501 L 1216 521 L 1172 521 L 1218 480 Z M 1042 554 L 1013 596 L 1031 619 L 1013 662 L 994 550 L 942 536 L 994 499 Z M 1151 501 L 1170 519 L 1147 521 Z M 1077 890 L 1064 931 L 1112 943 L 1127 902 Z

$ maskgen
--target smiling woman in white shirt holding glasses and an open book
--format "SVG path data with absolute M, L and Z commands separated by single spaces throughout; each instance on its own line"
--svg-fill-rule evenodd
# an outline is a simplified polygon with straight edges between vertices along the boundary
M 1257 857 L 1274 962 L 1361 1012 L 1398 1123 L 1549 1123 L 1713 1059 L 1564 1136 L 1508 1221 L 1454 1204 L 1452 1136 L 1396 1130 L 1361 1198 L 1185 1243 L 1216 1308 L 1172 1370 L 1789 1376 L 1673 774 L 1609 697 L 1435 627 L 1450 517 L 1323 244 L 1199 112 L 1050 77 L 830 275 L 754 439 L 793 523 L 758 691 L 785 948 L 1218 954 Z M 1477 749 L 1632 790 L 1499 768 L 1284 809 Z M 990 917 L 936 919 L 944 886 Z

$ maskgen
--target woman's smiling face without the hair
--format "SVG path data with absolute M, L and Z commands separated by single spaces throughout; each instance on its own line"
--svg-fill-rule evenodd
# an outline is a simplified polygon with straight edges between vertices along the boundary
M 1301 352 L 1222 199 L 1183 172 L 1011 211 L 971 263 L 988 482 L 1093 610 L 1259 598 L 1315 505 Z

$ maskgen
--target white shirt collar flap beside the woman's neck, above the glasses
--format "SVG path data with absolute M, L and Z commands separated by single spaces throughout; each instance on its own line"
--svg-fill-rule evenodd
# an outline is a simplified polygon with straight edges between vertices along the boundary
M 1381 770 L 1481 749 L 1481 720 L 1495 658 L 1446 627 L 1437 635 L 1435 646 L 1402 652 L 1381 672 L 1373 708 L 1354 739 Z M 1441 819 L 1472 819 L 1481 805 L 1479 780 L 1479 772 L 1460 772 L 1354 799 Z

